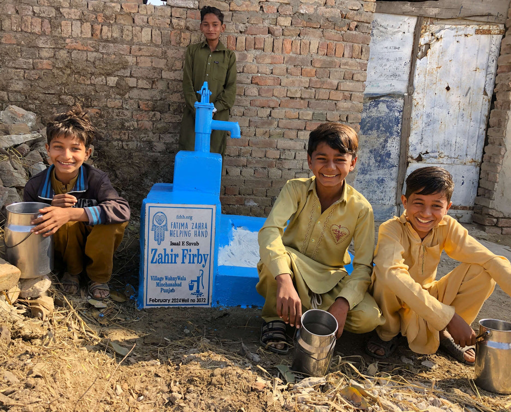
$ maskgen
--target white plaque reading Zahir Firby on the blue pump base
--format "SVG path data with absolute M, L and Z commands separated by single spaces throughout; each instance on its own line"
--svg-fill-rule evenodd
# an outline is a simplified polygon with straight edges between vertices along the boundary
M 146 204 L 144 306 L 211 306 L 215 210 Z

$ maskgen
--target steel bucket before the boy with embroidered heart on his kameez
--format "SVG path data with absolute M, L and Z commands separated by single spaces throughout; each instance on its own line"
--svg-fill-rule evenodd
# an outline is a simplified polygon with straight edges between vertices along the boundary
M 310 309 L 301 316 L 296 330 L 291 369 L 310 376 L 323 376 L 330 368 L 335 347 L 337 320 L 324 310 Z

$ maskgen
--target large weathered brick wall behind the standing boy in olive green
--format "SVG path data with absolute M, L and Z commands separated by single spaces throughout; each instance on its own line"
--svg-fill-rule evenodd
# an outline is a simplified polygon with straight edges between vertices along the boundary
M 4 0 L 0 107 L 45 122 L 75 102 L 103 131 L 96 163 L 134 206 L 172 182 L 185 48 L 201 40 L 199 7 L 225 14 L 238 90 L 224 213 L 266 215 L 287 179 L 308 177 L 306 142 L 325 120 L 359 129 L 374 0 L 135 2 Z

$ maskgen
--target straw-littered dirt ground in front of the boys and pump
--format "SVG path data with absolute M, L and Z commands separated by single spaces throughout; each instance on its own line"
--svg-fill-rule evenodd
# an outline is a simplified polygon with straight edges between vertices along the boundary
M 511 246 L 511 236 L 480 239 Z M 138 242 L 132 231 L 117 255 L 118 293 L 97 309 L 63 296 L 51 317 L 0 302 L 0 410 L 42 411 L 509 411 L 511 396 L 478 389 L 474 368 L 442 353 L 417 355 L 402 342 L 385 361 L 364 353 L 368 335 L 344 333 L 329 374 L 289 373 L 293 352 L 259 347 L 257 308 L 138 310 Z M 454 267 L 446 257 L 439 268 Z M 120 302 L 126 299 L 124 302 Z M 511 320 L 499 288 L 478 319 Z M 477 320 L 472 325 L 478 330 Z M 289 331 L 292 333 L 292 331 Z

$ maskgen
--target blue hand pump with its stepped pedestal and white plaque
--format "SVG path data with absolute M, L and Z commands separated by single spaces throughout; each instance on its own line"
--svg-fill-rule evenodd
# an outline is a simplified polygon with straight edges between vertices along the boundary
M 240 137 L 235 122 L 213 119 L 205 82 L 195 103 L 195 151 L 176 155 L 174 181 L 153 185 L 142 204 L 138 306 L 211 306 L 218 250 L 222 157 L 212 130 Z

